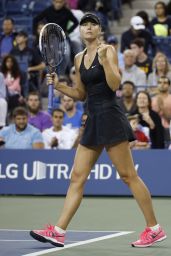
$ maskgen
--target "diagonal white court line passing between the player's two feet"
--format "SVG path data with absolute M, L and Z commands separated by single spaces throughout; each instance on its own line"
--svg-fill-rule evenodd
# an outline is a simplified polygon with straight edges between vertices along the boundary
M 127 235 L 127 234 L 131 234 L 133 232 L 134 231 L 123 231 L 123 232 L 120 232 L 118 234 L 106 235 L 106 236 L 101 236 L 101 237 L 98 237 L 98 238 L 93 238 L 93 239 L 88 239 L 88 240 L 85 240 L 85 241 L 81 241 L 81 242 L 78 242 L 78 243 L 75 243 L 75 244 L 68 244 L 68 245 L 66 245 L 65 247 L 62 247 L 62 248 L 58 247 L 58 248 L 53 248 L 53 249 L 47 249 L 47 250 L 43 250 L 43 251 L 39 251 L 39 252 L 23 254 L 22 256 L 44 255 L 44 254 L 48 254 L 48 253 L 51 253 L 51 252 L 62 251 L 62 250 L 68 249 L 68 248 L 72 248 L 72 247 L 76 247 L 76 246 L 80 246 L 80 245 L 85 245 L 85 244 L 90 244 L 90 243 L 110 239 L 110 238 L 113 238 L 113 237 L 124 236 L 124 235 Z

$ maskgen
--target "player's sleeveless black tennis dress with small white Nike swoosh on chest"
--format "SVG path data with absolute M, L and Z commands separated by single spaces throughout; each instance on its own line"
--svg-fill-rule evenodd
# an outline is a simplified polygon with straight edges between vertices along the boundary
M 80 74 L 87 91 L 88 118 L 80 144 L 97 146 L 135 140 L 131 126 L 116 102 L 116 93 L 107 84 L 98 54 L 89 69 L 84 65 L 85 54 L 86 51 Z

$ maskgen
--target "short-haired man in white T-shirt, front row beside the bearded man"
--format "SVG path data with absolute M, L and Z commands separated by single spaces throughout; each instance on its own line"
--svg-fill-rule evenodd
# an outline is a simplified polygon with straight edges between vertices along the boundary
M 78 133 L 63 126 L 64 112 L 61 109 L 52 111 L 53 126 L 42 133 L 46 149 L 71 149 Z

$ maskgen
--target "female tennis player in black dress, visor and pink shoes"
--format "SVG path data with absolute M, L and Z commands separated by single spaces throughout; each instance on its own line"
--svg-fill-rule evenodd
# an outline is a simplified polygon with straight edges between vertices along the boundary
M 117 55 L 113 47 L 100 44 L 100 32 L 98 17 L 92 13 L 85 14 L 80 21 L 80 33 L 86 48 L 75 57 L 76 87 L 71 88 L 60 83 L 56 74 L 47 75 L 48 84 L 53 83 L 60 92 L 76 100 L 87 98 L 88 118 L 75 155 L 71 182 L 61 216 L 55 226 L 33 230 L 30 234 L 38 241 L 64 246 L 66 228 L 81 203 L 84 184 L 105 148 L 121 179 L 132 191 L 146 220 L 147 227 L 132 246 L 147 247 L 164 240 L 166 234 L 156 221 L 150 193 L 135 171 L 129 147 L 129 141 L 134 140 L 133 132 L 116 103 L 115 91 L 121 82 Z

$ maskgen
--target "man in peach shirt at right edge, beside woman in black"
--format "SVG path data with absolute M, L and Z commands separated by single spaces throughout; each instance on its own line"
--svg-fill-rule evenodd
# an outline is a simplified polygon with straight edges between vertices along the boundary
M 171 120 L 171 94 L 170 80 L 161 76 L 158 80 L 158 91 L 159 93 L 152 97 L 152 109 L 156 111 L 162 120 L 162 125 L 165 129 L 165 142 L 170 142 L 169 125 Z

